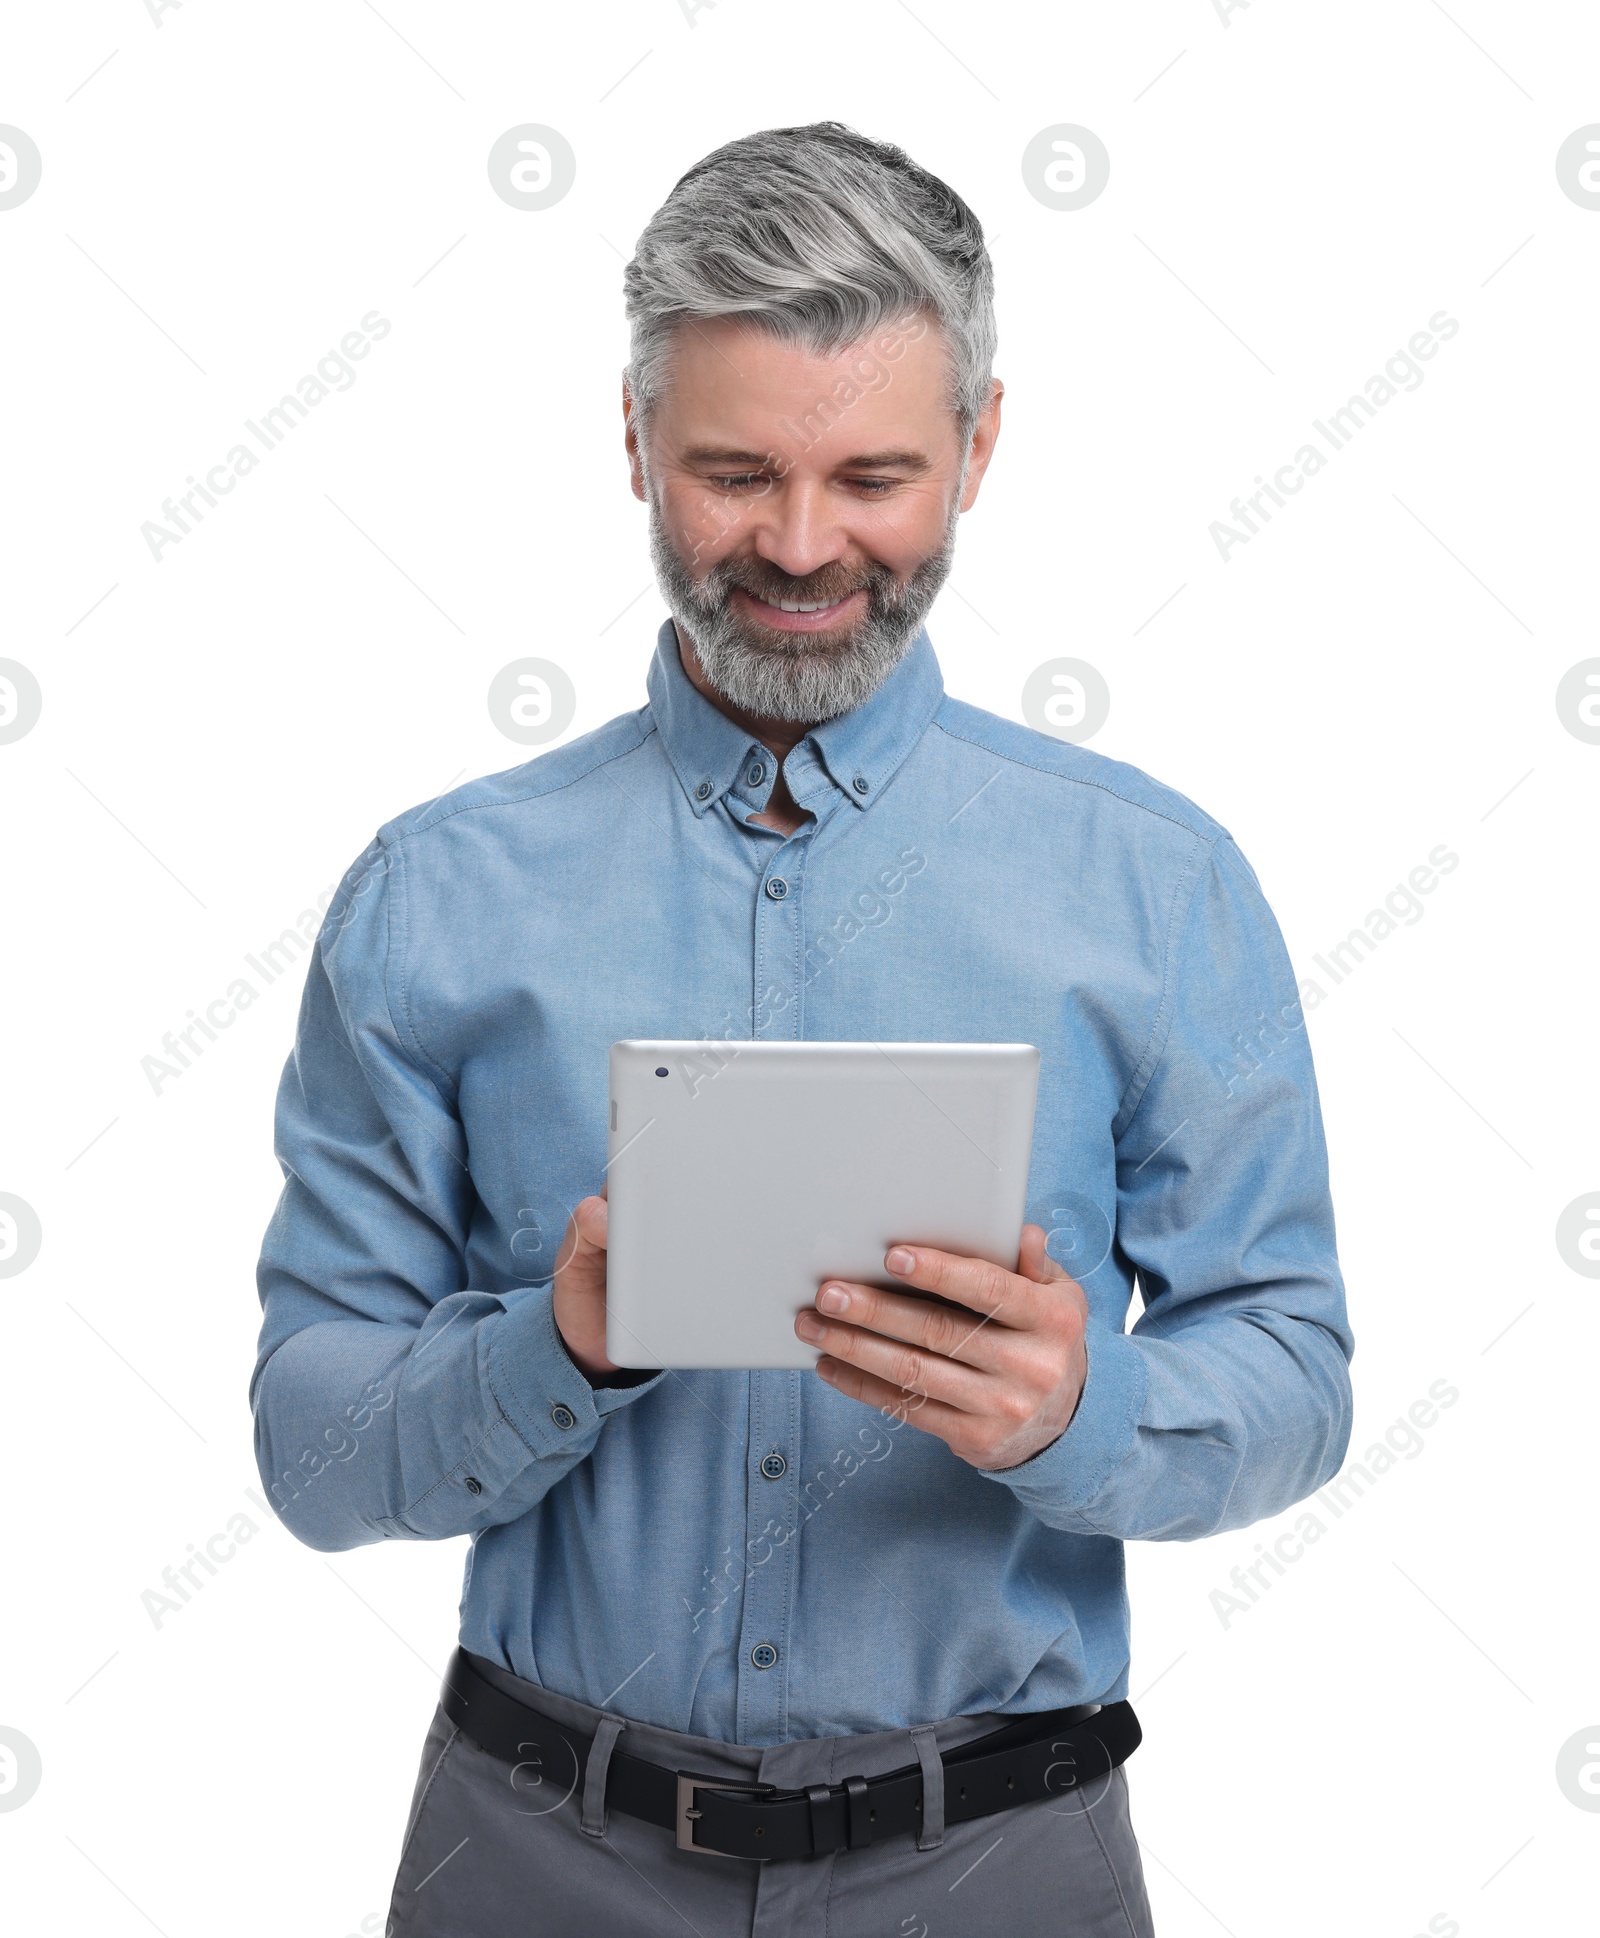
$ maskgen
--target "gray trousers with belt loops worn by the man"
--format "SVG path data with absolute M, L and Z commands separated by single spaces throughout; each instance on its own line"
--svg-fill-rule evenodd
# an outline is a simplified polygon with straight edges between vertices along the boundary
M 1015 1717 L 757 1750 L 633 1723 L 508 1671 L 494 1680 L 593 1735 L 589 1766 L 529 1744 L 529 1762 L 513 1769 L 440 1707 L 422 1744 L 387 1938 L 1153 1938 L 1123 1769 L 1060 1798 L 939 1824 L 936 1750 Z M 765 1864 L 692 1857 L 670 1831 L 604 1812 L 604 1764 L 620 1735 L 633 1756 L 783 1789 L 922 1762 L 932 1779 L 926 1849 L 905 1835 Z

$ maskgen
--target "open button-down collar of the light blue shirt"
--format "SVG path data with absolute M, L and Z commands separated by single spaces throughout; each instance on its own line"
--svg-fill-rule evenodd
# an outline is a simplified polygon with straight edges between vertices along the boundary
M 742 781 L 750 789 L 750 764 L 773 767 L 759 740 L 738 727 L 690 682 L 678 657 L 678 632 L 664 620 L 645 680 L 651 717 L 672 771 L 695 814 Z M 831 787 L 856 808 L 870 808 L 910 754 L 943 700 L 945 682 L 926 630 L 918 630 L 901 663 L 858 707 L 814 727 L 785 762 L 790 791 L 800 806 L 808 795 Z M 765 787 L 771 793 L 771 771 Z

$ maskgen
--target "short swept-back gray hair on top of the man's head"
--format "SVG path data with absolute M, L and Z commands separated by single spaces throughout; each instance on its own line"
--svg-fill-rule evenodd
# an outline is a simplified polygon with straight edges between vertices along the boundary
M 649 219 L 622 287 L 641 430 L 678 326 L 713 318 L 829 357 L 924 314 L 949 345 L 963 448 L 988 403 L 994 269 L 978 217 L 905 149 L 843 122 L 765 128 L 697 161 Z

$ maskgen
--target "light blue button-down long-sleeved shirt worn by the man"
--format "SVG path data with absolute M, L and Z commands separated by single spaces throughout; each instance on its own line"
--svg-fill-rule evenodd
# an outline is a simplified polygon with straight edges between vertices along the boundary
M 1282 938 L 1224 828 L 947 698 L 926 634 L 785 775 L 786 837 L 668 620 L 649 705 L 351 866 L 277 1099 L 263 1486 L 314 1548 L 471 1535 L 469 1649 L 668 1729 L 1123 1696 L 1123 1541 L 1277 1514 L 1348 1440 Z M 982 1473 L 812 1372 L 591 1388 L 550 1273 L 620 1037 L 1038 1045 L 1029 1215 L 1089 1297 L 1071 1426 Z

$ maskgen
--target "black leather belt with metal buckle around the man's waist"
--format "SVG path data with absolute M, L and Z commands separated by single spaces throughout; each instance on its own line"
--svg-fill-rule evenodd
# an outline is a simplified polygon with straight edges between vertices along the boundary
M 540 1797 L 546 1783 L 552 1785 L 548 1795 L 560 1795 L 568 1779 L 568 1795 L 573 1795 L 583 1783 L 593 1736 L 506 1696 L 477 1672 L 477 1661 L 480 1657 L 457 1649 L 446 1671 L 442 1704 L 449 1721 L 480 1750 L 513 1766 L 513 1787 L 517 1769 L 531 1769 L 535 1775 L 525 1781 L 537 1785 Z M 1131 1756 L 1139 1736 L 1139 1719 L 1125 1702 L 1017 1717 L 939 1758 L 945 1822 L 967 1824 L 1017 1804 L 1069 1797 Z M 922 1767 L 910 1764 L 881 1777 L 783 1791 L 771 1783 L 668 1769 L 616 1748 L 606 1804 L 670 1829 L 682 1851 L 755 1860 L 825 1857 L 883 1837 L 914 1835 L 922 1822 Z

